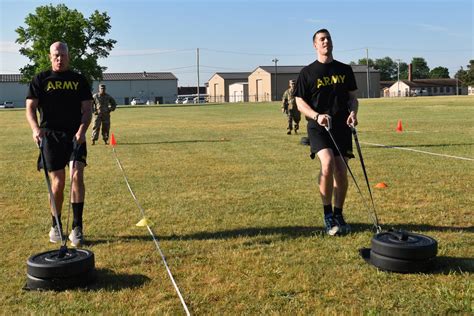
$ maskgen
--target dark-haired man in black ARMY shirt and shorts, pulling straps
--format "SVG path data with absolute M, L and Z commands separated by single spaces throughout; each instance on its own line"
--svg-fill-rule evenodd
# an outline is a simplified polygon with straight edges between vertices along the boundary
M 294 95 L 298 109 L 308 118 L 311 158 L 317 155 L 321 162 L 319 191 L 326 232 L 332 236 L 350 231 L 342 215 L 348 187 L 347 168 L 342 159 L 347 162 L 354 157 L 350 125 L 357 125 L 359 103 L 352 68 L 334 60 L 329 31 L 317 31 L 313 46 L 318 58 L 301 70 Z M 339 157 L 326 128 L 330 128 L 344 157 Z

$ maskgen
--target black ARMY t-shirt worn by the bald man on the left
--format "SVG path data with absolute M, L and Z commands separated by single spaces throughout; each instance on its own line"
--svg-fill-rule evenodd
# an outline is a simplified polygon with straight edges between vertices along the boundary
M 81 125 L 81 102 L 92 94 L 83 75 L 49 70 L 33 78 L 27 99 L 38 99 L 41 128 L 74 134 Z

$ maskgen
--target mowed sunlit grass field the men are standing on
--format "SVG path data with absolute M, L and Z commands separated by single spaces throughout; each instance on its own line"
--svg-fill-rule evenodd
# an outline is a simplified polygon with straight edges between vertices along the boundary
M 367 143 L 473 159 L 474 98 L 360 103 L 359 139 L 380 224 L 437 239 L 432 273 L 387 273 L 364 262 L 358 250 L 370 247 L 373 224 L 352 180 L 345 213 L 353 232 L 323 233 L 319 163 L 299 144 L 306 123 L 300 135 L 287 136 L 279 104 L 113 113 L 117 155 L 192 314 L 473 312 L 474 162 Z M 88 147 L 84 215 L 97 283 L 22 289 L 26 259 L 57 246 L 47 239 L 47 188 L 24 110 L 1 111 L 0 126 L 2 313 L 184 314 L 102 142 Z M 358 159 L 350 165 L 367 198 Z M 388 188 L 375 189 L 378 182 Z M 64 223 L 66 213 L 65 203 Z

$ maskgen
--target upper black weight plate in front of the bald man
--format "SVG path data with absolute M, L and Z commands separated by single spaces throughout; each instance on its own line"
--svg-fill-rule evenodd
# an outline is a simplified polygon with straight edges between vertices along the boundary
M 64 258 L 59 250 L 42 252 L 27 260 L 27 273 L 36 278 L 69 278 L 94 269 L 94 253 L 85 249 L 68 249 Z

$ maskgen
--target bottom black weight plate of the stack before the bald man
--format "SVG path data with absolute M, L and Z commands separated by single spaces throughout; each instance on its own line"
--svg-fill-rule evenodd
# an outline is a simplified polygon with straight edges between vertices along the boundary
M 92 284 L 96 279 L 95 270 L 90 270 L 70 278 L 37 278 L 29 274 L 26 275 L 26 289 L 28 290 L 55 290 L 61 291 L 76 287 L 85 287 Z

